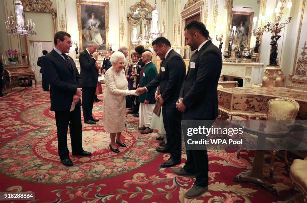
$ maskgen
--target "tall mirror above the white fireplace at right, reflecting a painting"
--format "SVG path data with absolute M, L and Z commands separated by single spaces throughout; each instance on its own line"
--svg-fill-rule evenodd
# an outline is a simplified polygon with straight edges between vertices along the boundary
M 224 60 L 228 62 L 258 62 L 261 36 L 253 33 L 265 0 L 231 0 L 227 8 L 228 31 Z

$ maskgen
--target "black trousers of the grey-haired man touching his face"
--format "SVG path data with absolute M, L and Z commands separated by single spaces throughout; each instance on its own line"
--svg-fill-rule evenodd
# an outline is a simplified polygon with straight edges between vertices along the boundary
M 82 88 L 82 111 L 84 121 L 93 118 L 92 110 L 94 106 L 96 87 L 83 87 Z

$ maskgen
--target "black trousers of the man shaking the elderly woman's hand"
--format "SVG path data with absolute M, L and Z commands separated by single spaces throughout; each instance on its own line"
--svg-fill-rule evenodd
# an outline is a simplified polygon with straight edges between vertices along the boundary
M 163 125 L 167 138 L 167 149 L 174 160 L 181 159 L 181 112 L 175 107 L 163 107 Z

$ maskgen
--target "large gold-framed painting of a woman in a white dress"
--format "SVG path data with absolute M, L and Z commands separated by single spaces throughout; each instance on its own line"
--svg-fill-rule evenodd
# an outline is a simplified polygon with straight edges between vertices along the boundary
M 109 29 L 109 2 L 77 0 L 79 29 L 79 50 L 86 48 L 89 41 L 95 41 L 97 50 L 106 51 Z

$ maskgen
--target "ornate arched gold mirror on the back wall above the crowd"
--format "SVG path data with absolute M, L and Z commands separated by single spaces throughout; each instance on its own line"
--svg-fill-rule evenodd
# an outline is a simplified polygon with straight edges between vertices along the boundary
M 130 7 L 131 13 L 128 13 L 129 22 L 129 46 L 146 44 L 146 35 L 150 32 L 151 13 L 155 7 L 151 6 L 145 0 L 141 0 Z

